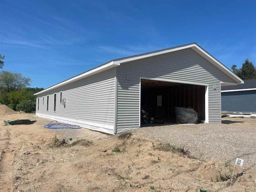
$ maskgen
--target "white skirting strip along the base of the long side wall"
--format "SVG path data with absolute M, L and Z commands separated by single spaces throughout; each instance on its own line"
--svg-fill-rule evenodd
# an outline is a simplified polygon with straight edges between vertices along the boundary
M 112 126 L 112 125 L 106 125 L 106 124 L 100 124 L 100 123 L 94 123 L 94 122 L 88 122 L 88 121 L 81 121 L 81 120 L 59 117 L 59 116 L 54 116 L 54 115 L 46 115 L 46 114 L 42 114 L 42 113 L 36 113 L 36 116 L 39 116 L 42 118 L 48 118 L 48 119 L 52 119 L 52 120 L 58 120 L 58 121 L 66 122 L 66 123 L 72 123 L 72 124 L 76 124 L 76 125 L 79 125 L 84 128 L 97 130 L 97 131 L 105 132 L 105 133 L 109 133 L 109 134 L 114 134 L 114 126 Z

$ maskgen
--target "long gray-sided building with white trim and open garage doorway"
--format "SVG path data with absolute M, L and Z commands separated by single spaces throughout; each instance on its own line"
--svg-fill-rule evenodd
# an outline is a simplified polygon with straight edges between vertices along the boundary
M 110 134 L 142 126 L 142 109 L 175 122 L 175 106 L 192 107 L 199 120 L 221 123 L 221 86 L 241 83 L 192 43 L 111 60 L 38 92 L 36 115 Z

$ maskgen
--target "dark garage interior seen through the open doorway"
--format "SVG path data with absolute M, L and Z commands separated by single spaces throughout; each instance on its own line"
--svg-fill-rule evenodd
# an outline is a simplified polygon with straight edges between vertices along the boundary
M 141 126 L 177 123 L 175 107 L 192 107 L 201 122 L 205 120 L 205 86 L 141 80 L 140 107 Z

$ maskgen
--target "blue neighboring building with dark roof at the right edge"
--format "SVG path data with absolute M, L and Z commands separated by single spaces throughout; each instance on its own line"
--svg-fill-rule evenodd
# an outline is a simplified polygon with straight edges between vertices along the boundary
M 228 112 L 256 112 L 256 79 L 244 84 L 221 88 L 221 110 Z

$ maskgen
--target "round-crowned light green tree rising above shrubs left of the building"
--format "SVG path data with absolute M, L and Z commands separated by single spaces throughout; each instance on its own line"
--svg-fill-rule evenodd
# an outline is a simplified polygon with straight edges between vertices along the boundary
M 23 77 L 21 73 L 12 73 L 8 71 L 0 72 L 0 88 L 6 93 L 19 91 L 29 86 L 31 79 Z

